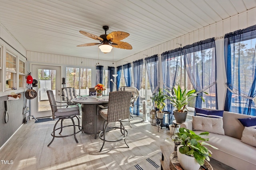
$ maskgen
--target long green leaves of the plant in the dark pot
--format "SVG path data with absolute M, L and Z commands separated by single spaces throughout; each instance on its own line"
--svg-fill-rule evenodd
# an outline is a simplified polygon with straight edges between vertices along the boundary
M 188 104 L 188 102 L 197 96 L 196 90 L 190 90 L 187 92 L 187 89 L 185 89 L 184 91 L 182 91 L 180 85 L 178 85 L 177 89 L 174 87 L 172 92 L 168 90 L 166 90 L 166 92 L 168 92 L 169 94 L 166 95 L 166 99 L 170 100 L 170 104 L 176 107 L 178 112 L 184 112 L 184 109 L 186 109 L 186 105 Z M 207 94 L 206 92 L 204 93 Z M 201 98 L 204 102 L 202 96 Z

